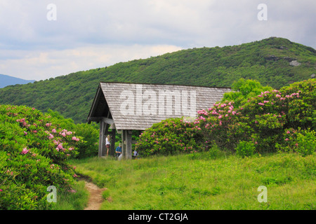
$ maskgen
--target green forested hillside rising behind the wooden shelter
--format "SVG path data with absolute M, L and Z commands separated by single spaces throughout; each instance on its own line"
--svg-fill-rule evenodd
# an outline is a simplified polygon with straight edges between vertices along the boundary
M 284 38 L 223 48 L 193 48 L 78 71 L 0 89 L 0 104 L 52 109 L 75 123 L 86 121 L 100 81 L 230 87 L 239 78 L 279 88 L 315 73 L 316 50 Z

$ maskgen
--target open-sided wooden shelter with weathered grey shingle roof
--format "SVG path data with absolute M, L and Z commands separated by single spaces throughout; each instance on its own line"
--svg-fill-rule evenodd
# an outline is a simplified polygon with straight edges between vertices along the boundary
M 117 130 L 122 138 L 122 156 L 131 159 L 132 130 L 145 130 L 167 118 L 195 118 L 197 111 L 212 107 L 229 91 L 227 87 L 100 83 L 87 118 L 88 123 L 100 123 L 98 155 L 106 155 L 109 129 L 110 152 L 115 150 Z

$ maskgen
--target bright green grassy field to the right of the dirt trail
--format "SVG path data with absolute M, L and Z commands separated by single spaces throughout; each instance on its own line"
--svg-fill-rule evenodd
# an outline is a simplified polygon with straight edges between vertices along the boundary
M 106 187 L 101 209 L 316 209 L 316 156 L 239 158 L 208 153 L 117 161 L 73 160 L 79 174 Z M 258 202 L 259 186 L 268 202 Z

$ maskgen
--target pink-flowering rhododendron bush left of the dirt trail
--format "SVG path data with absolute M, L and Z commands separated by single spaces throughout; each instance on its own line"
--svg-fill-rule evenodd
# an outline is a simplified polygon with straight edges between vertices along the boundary
M 26 106 L 0 105 L 0 209 L 46 209 L 48 186 L 71 190 L 81 137 Z

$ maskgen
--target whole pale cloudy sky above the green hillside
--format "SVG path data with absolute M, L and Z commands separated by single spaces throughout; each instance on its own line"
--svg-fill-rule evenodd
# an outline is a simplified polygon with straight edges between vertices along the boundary
M 270 36 L 316 47 L 315 0 L 0 0 L 0 73 L 45 80 Z

